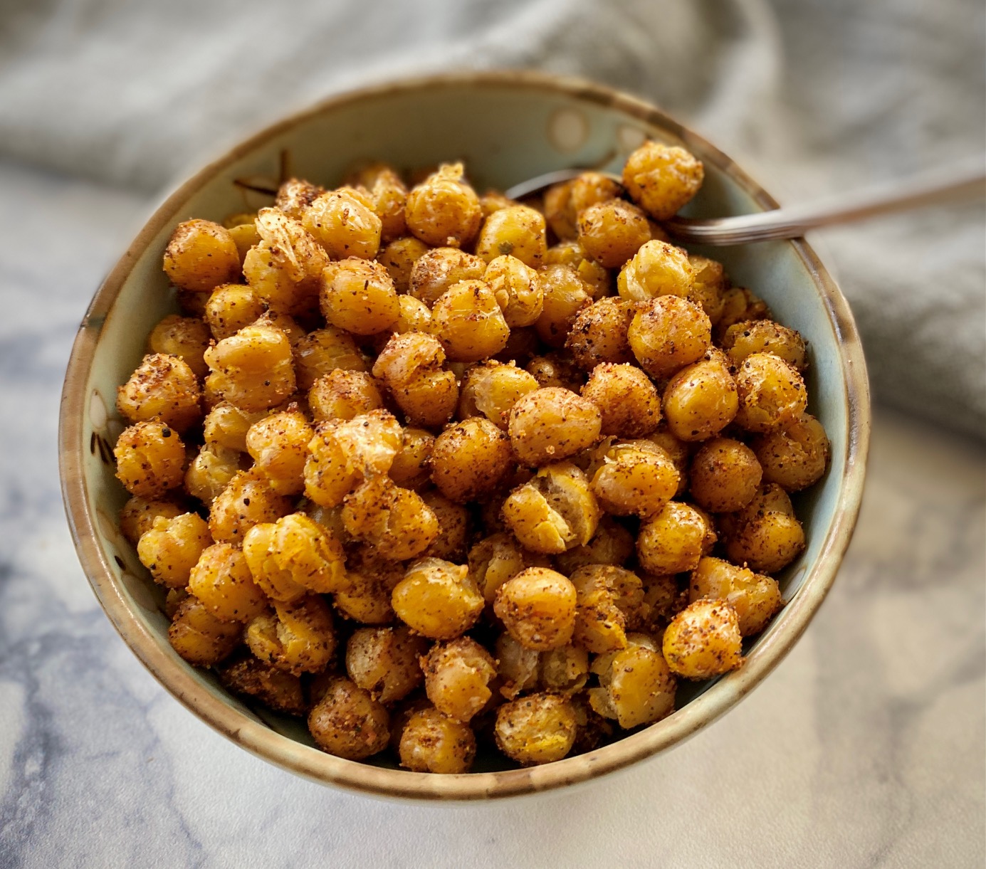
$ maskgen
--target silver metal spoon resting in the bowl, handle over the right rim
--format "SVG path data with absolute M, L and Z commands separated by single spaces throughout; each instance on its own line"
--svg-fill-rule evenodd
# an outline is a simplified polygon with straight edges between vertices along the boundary
M 510 199 L 521 199 L 559 181 L 574 178 L 586 169 L 559 169 L 515 184 L 505 191 Z M 620 181 L 619 175 L 603 172 Z M 799 238 L 808 230 L 846 224 L 879 214 L 908 211 L 934 203 L 986 194 L 986 165 L 983 158 L 936 169 L 909 178 L 887 181 L 854 193 L 841 193 L 805 205 L 739 217 L 693 220 L 671 218 L 664 228 L 680 241 L 702 244 L 745 244 L 770 238 Z

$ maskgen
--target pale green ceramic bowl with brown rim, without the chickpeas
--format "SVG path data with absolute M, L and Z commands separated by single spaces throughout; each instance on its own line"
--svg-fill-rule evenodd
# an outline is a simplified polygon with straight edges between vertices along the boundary
M 403 81 L 327 100 L 237 146 L 182 184 L 154 213 L 94 298 L 75 341 L 60 423 L 64 498 L 83 568 L 113 626 L 179 702 L 247 751 L 317 781 L 378 795 L 465 800 L 546 790 L 621 769 L 669 749 L 739 702 L 778 664 L 835 578 L 856 521 L 870 429 L 866 370 L 849 307 L 804 240 L 700 251 L 725 262 L 734 281 L 762 296 L 810 347 L 810 410 L 832 443 L 831 468 L 798 499 L 808 535 L 784 571 L 787 605 L 749 643 L 740 670 L 688 685 L 668 718 L 593 752 L 532 769 L 478 759 L 476 771 L 429 775 L 391 761 L 354 763 L 317 750 L 303 722 L 229 695 L 168 643 L 163 594 L 116 514 L 125 493 L 111 447 L 122 424 L 117 384 L 137 366 L 146 336 L 176 301 L 161 269 L 176 224 L 221 220 L 269 204 L 256 192 L 286 171 L 326 185 L 367 158 L 396 167 L 464 160 L 476 186 L 504 188 L 561 167 L 618 170 L 645 138 L 680 144 L 705 164 L 685 213 L 725 216 L 775 208 L 740 167 L 657 108 L 585 82 L 529 73 L 450 75 Z M 699 249 L 699 248 L 696 248 Z

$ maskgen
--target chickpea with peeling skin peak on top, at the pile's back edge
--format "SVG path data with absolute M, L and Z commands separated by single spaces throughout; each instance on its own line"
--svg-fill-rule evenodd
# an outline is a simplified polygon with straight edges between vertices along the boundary
M 407 194 L 407 229 L 435 247 L 464 247 L 482 216 L 479 197 L 462 179 L 460 163 L 443 164 Z

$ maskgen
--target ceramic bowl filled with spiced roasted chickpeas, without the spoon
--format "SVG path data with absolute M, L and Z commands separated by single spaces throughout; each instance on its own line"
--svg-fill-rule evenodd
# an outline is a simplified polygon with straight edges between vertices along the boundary
M 805 631 L 862 498 L 865 365 L 810 245 L 663 225 L 772 207 L 658 109 L 529 73 L 239 145 L 66 374 L 110 621 L 247 751 L 371 794 L 546 790 L 696 732 Z

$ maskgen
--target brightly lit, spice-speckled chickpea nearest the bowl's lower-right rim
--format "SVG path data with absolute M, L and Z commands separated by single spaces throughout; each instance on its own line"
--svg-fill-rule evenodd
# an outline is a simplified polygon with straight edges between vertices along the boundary
M 711 679 L 742 663 L 740 619 L 724 600 L 700 598 L 671 619 L 662 643 L 670 671 Z

